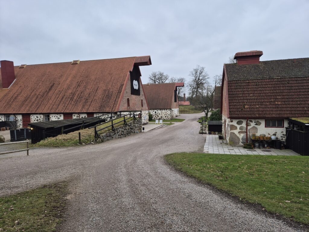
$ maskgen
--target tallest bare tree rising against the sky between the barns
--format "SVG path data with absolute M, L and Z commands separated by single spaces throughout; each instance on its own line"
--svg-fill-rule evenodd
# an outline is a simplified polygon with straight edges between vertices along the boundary
M 197 65 L 196 68 L 190 71 L 189 76 L 192 77 L 189 82 L 189 95 L 191 98 L 197 97 L 207 79 L 209 79 L 209 75 L 205 67 Z

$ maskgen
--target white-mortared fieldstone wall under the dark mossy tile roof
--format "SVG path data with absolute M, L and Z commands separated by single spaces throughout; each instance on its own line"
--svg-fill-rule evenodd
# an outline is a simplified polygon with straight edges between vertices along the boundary
M 222 122 L 226 120 L 226 141 L 230 145 L 243 146 L 246 143 L 246 119 L 230 119 L 222 116 Z M 288 127 L 288 120 L 284 120 L 283 128 L 265 127 L 265 119 L 248 120 L 248 142 L 252 142 L 253 133 L 259 136 L 275 135 L 277 140 L 285 140 L 285 127 Z M 255 125 L 256 124 L 256 125 Z M 224 134 L 224 124 L 222 126 L 222 134 Z

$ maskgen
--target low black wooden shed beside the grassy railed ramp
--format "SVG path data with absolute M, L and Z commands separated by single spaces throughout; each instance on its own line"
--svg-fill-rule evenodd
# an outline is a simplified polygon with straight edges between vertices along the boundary
M 31 143 L 36 144 L 45 138 L 56 137 L 57 135 L 78 131 L 82 128 L 92 127 L 104 121 L 105 119 L 92 117 L 28 123 L 31 127 Z

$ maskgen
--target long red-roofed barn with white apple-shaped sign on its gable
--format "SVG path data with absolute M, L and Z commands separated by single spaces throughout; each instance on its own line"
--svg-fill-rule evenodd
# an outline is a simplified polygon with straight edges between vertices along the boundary
M 148 103 L 139 67 L 150 56 L 14 66 L 1 61 L 0 121 L 30 122 L 142 111 Z M 108 116 L 108 115 L 107 115 Z

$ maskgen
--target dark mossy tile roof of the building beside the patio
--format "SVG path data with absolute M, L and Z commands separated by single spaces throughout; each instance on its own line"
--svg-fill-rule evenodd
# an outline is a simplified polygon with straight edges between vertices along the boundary
M 225 64 L 230 118 L 309 117 L 309 58 Z

